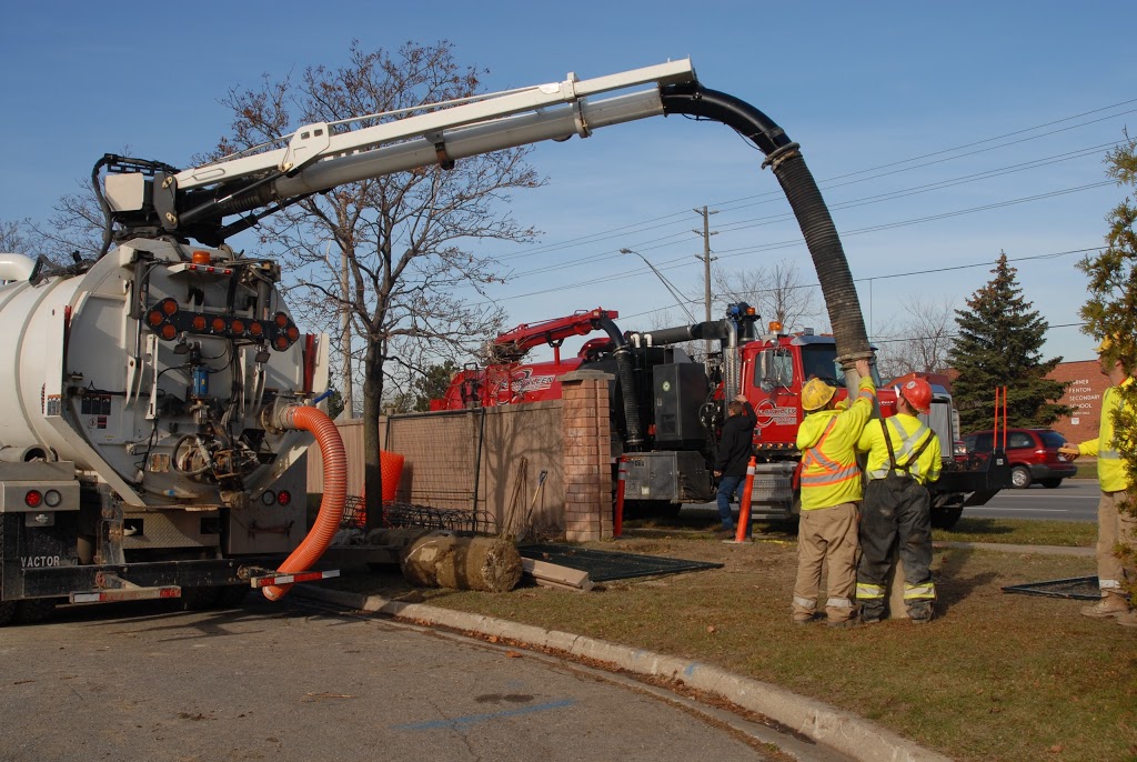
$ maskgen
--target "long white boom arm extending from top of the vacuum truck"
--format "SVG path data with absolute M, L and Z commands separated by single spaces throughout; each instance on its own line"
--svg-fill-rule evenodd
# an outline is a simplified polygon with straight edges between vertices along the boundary
M 341 183 L 443 159 L 464 158 L 573 133 L 587 136 L 595 127 L 662 114 L 658 86 L 694 80 L 690 59 L 592 80 L 578 81 L 568 74 L 564 82 L 489 96 L 475 102 L 341 134 L 331 134 L 327 123 L 305 125 L 292 134 L 287 148 L 194 167 L 179 173 L 175 180 L 180 190 L 188 191 L 277 171 L 296 180 L 293 183 L 280 181 L 276 188 L 277 198 L 289 198 L 298 192 L 326 190 Z M 583 101 L 589 96 L 646 83 L 657 86 L 601 103 Z M 555 106 L 565 107 L 550 109 Z M 516 116 L 524 113 L 530 114 Z M 360 152 L 381 155 L 363 156 Z M 296 179 L 301 169 L 304 179 Z

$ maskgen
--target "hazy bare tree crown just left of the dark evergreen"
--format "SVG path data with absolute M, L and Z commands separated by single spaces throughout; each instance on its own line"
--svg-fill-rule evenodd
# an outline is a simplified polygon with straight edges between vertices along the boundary
M 877 367 L 881 378 L 906 373 L 944 373 L 955 337 L 952 299 L 907 297 L 903 314 L 877 332 Z

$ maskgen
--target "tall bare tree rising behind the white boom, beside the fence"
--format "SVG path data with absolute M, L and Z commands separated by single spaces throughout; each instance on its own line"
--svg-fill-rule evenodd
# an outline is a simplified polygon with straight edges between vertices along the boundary
M 481 74 L 460 67 L 445 41 L 373 52 L 354 42 L 342 68 L 309 67 L 296 83 L 265 76 L 256 90 L 231 90 L 222 102 L 234 116 L 232 134 L 221 142 L 219 152 L 279 144 L 290 125 L 422 113 L 428 110 L 423 103 L 476 94 Z M 351 124 L 365 127 L 391 118 Z M 291 291 L 300 297 L 297 304 L 306 317 L 332 329 L 346 308 L 360 338 L 368 503 L 377 503 L 382 494 L 379 414 L 388 361 L 397 358 L 404 368 L 417 364 L 405 351 L 407 342 L 468 351 L 501 323 L 499 308 L 475 307 L 458 295 L 465 289 L 484 297 L 482 288 L 499 280 L 496 263 L 463 247 L 536 237 L 497 202 L 543 183 L 525 163 L 528 152 L 504 150 L 465 159 L 451 169 L 434 166 L 342 185 L 302 199 L 259 229 L 263 242 L 282 250 L 298 268 Z M 327 241 L 332 248 L 325 257 Z M 347 259 L 347 292 L 339 255 Z M 368 511 L 368 522 L 379 515 L 377 510 Z

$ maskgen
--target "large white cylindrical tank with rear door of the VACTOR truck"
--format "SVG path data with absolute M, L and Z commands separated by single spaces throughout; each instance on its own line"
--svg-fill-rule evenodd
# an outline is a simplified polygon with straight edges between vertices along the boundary
M 310 441 L 263 411 L 327 383 L 326 342 L 306 382 L 277 279 L 227 249 L 135 239 L 83 274 L 0 285 L 0 459 L 73 461 L 140 506 L 255 499 Z

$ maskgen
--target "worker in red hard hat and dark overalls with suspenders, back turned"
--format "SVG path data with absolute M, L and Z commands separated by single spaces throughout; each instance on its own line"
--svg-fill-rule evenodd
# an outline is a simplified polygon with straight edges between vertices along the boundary
M 908 619 L 930 622 L 936 601 L 931 579 L 931 494 L 927 483 L 943 467 L 939 437 L 918 417 L 931 408 L 931 386 L 912 379 L 896 387 L 896 415 L 865 426 L 857 449 L 869 454 L 861 510 L 861 561 L 856 598 L 861 621 L 886 615 L 885 588 L 893 548 L 904 563 L 904 606 Z

